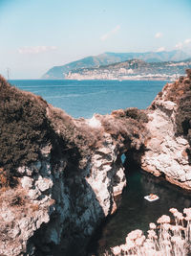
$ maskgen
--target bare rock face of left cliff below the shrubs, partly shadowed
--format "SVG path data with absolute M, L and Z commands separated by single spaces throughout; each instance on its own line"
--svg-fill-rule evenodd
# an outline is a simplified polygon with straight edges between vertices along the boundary
M 104 138 L 107 147 L 97 149 L 84 169 L 69 168 L 67 158 L 53 164 L 51 154 L 18 168 L 20 185 L 1 194 L 1 255 L 84 255 L 126 184 L 113 139 Z

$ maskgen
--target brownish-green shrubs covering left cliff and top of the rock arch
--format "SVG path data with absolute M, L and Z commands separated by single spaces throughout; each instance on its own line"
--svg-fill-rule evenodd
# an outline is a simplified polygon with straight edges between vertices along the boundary
M 97 119 L 102 128 L 91 128 L 85 120 L 74 120 L 41 97 L 20 91 L 0 77 L 1 186 L 14 183 L 19 166 L 40 160 L 41 149 L 48 144 L 52 146 L 52 162 L 67 157 L 74 170 L 84 168 L 91 151 L 101 147 L 104 131 L 119 143 L 125 141 L 138 149 L 144 141 L 143 123 L 148 120 L 138 108 L 114 111 L 112 116 L 97 115 Z

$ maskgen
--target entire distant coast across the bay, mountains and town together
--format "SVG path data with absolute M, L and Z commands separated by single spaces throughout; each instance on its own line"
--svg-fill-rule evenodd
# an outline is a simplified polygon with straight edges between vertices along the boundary
M 175 81 L 187 68 L 191 68 L 191 58 L 181 51 L 105 53 L 54 66 L 42 79 Z

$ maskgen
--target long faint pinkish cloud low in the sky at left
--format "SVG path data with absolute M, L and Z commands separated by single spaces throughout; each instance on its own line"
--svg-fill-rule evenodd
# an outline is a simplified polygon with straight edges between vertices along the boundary
M 40 54 L 56 50 L 56 46 L 24 46 L 18 49 L 19 54 Z

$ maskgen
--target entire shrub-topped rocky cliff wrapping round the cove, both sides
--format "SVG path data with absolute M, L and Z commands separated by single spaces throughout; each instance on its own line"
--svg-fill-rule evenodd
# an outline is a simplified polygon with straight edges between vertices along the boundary
M 147 110 L 73 119 L 0 78 L 0 255 L 85 255 L 126 164 L 191 189 L 191 75 Z

